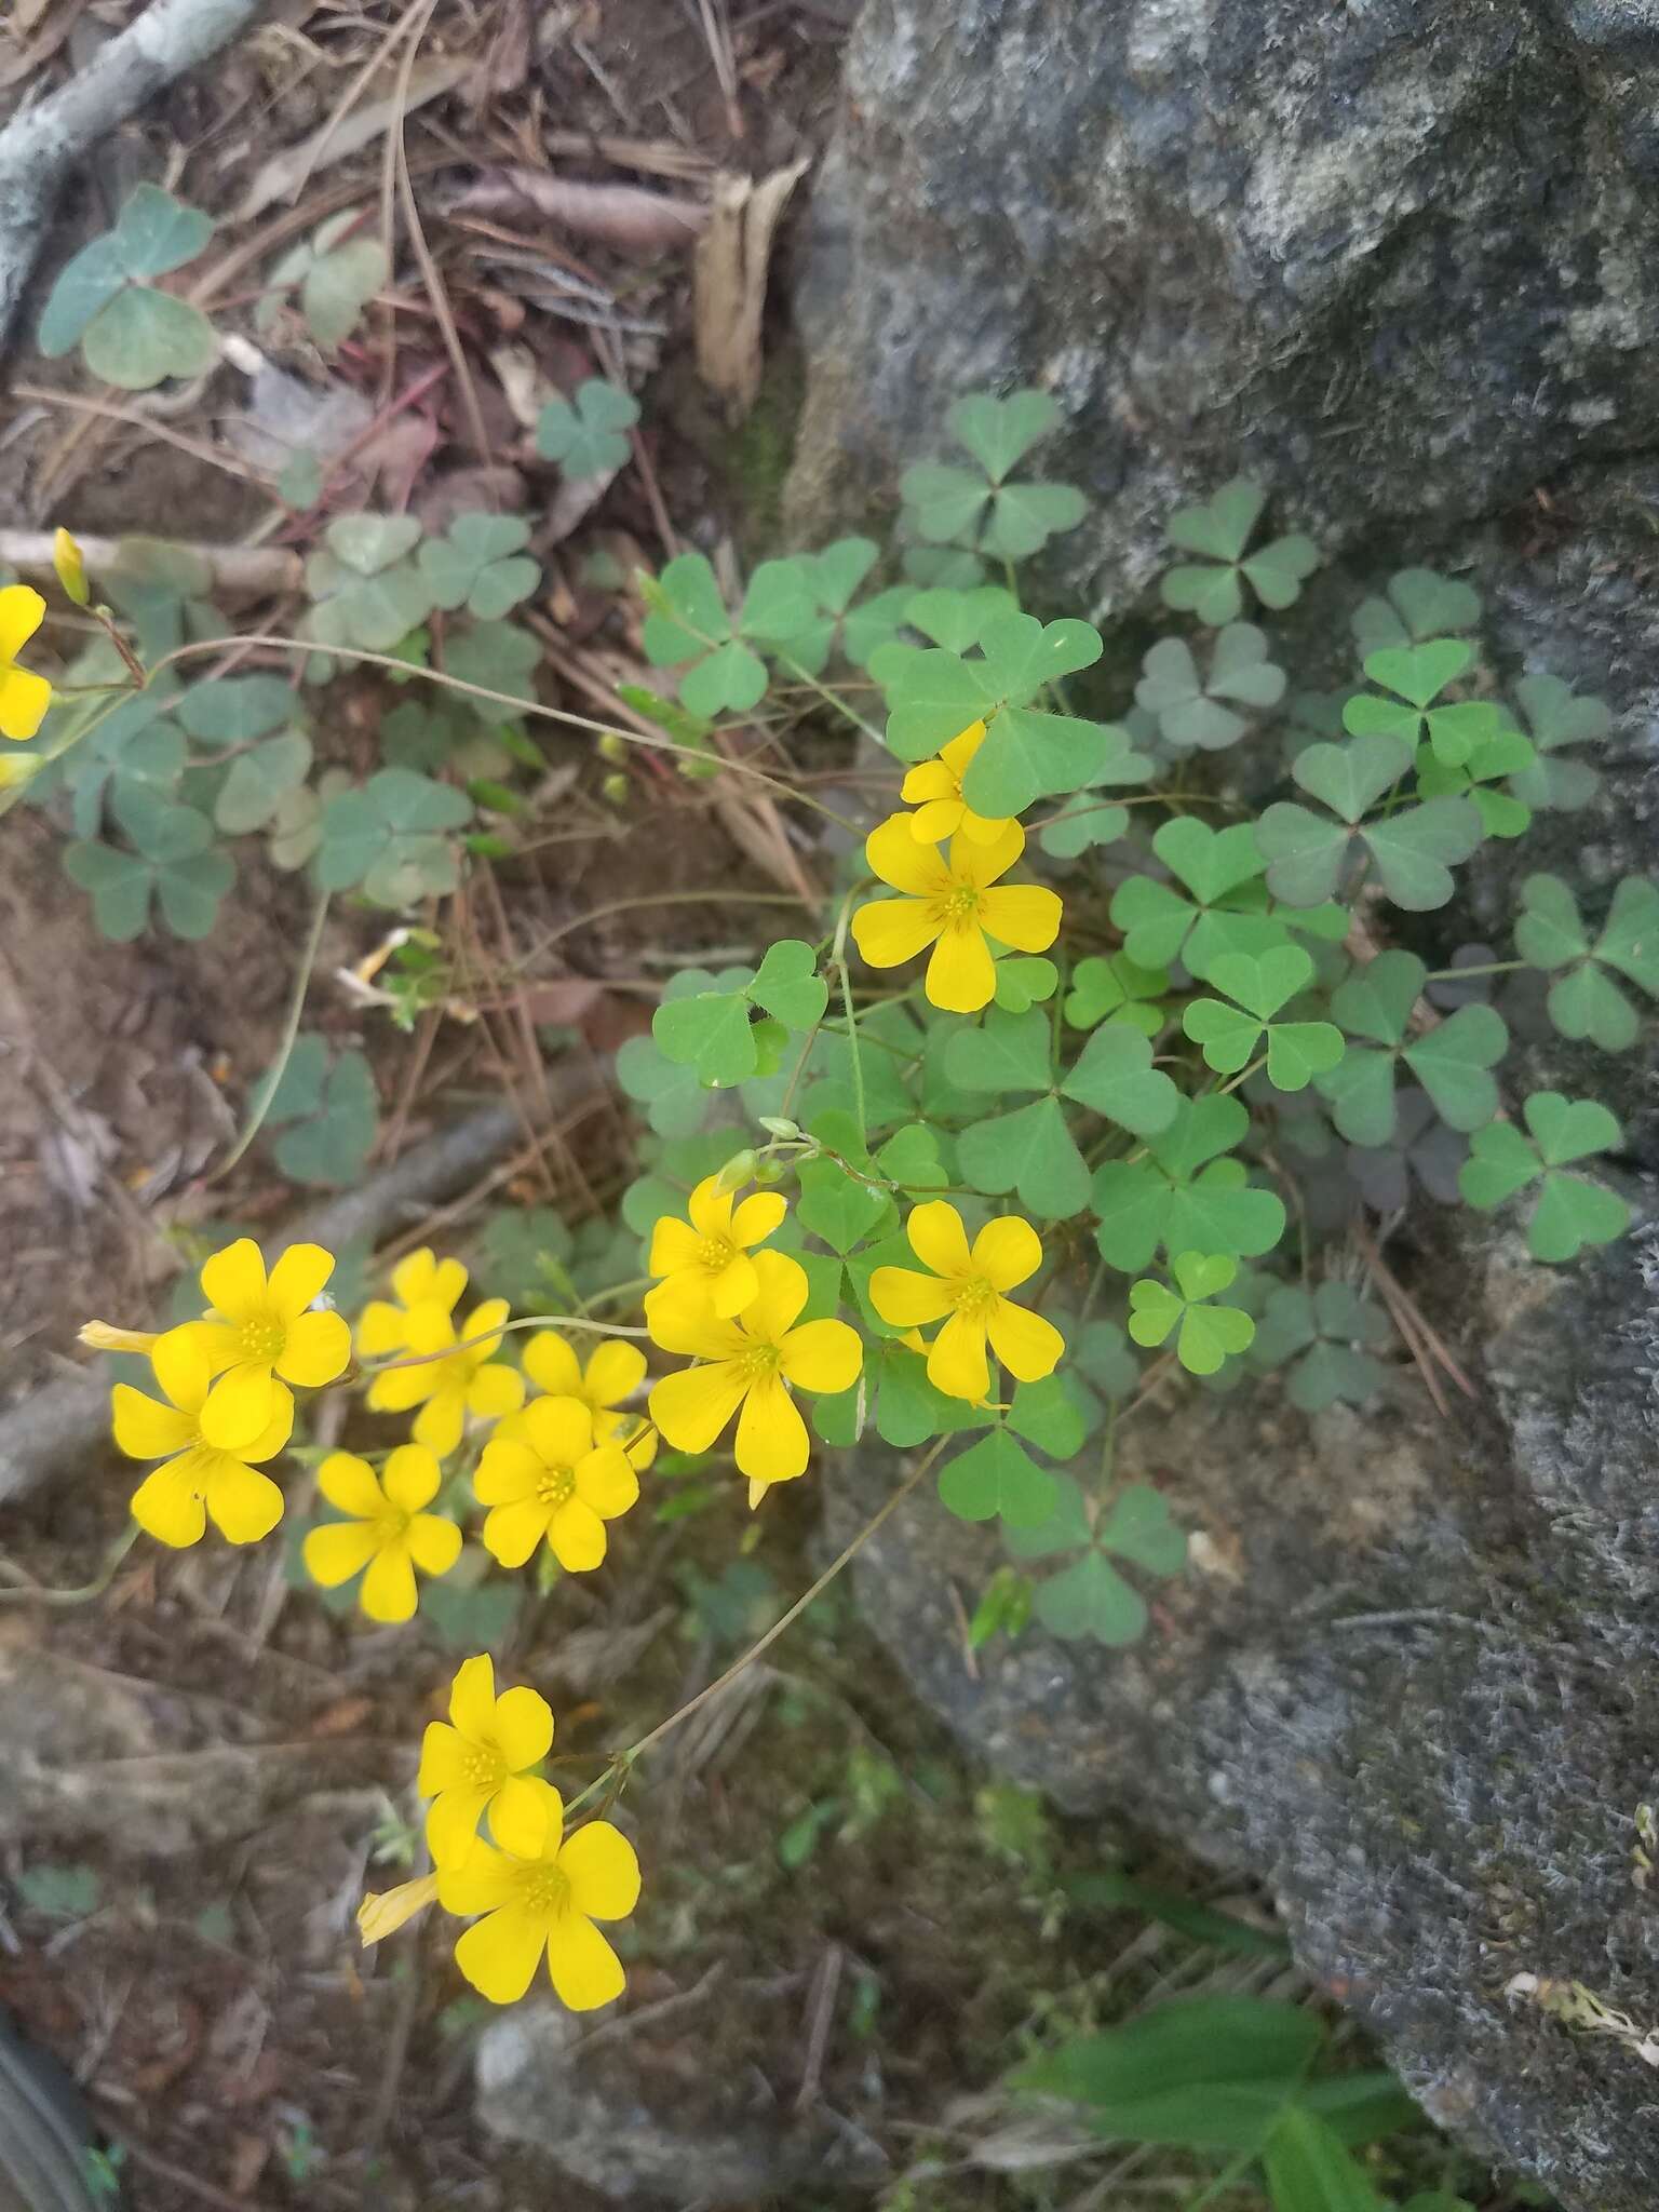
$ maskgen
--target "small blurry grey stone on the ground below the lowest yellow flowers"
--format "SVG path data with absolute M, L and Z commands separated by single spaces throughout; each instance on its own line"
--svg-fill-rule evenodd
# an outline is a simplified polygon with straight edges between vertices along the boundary
M 692 2013 L 697 2002 L 692 1991 Z M 710 2035 L 721 2002 L 726 1993 L 708 2000 Z M 754 2004 L 748 1993 L 741 2002 L 745 2013 Z M 633 2020 L 515 2006 L 478 2046 L 478 2115 L 498 2139 L 542 2150 L 571 2181 L 626 2205 L 748 2205 L 805 2183 L 869 2188 L 887 2172 L 849 2121 L 783 2112 L 759 2077 L 710 2062 L 679 2000 Z

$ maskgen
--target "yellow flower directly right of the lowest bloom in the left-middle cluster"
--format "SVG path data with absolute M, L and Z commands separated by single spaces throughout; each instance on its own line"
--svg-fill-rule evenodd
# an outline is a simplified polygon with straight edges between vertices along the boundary
M 575 1398 L 531 1398 L 484 1444 L 473 1475 L 484 1548 L 502 1566 L 524 1566 L 546 1548 L 568 1575 L 606 1555 L 604 1524 L 639 1498 L 639 1478 L 622 1444 L 595 1444 L 593 1413 Z

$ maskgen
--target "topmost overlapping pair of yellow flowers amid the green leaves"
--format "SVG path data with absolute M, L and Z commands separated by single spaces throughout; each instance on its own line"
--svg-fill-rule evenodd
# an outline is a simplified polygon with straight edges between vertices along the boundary
M 962 799 L 962 776 L 984 743 L 975 721 L 933 761 L 905 776 L 916 814 L 889 814 L 869 832 L 872 876 L 898 898 L 869 900 L 852 936 L 872 967 L 902 967 L 931 945 L 927 998 L 947 1013 L 978 1013 L 995 995 L 991 945 L 1042 953 L 1060 936 L 1060 898 L 1035 883 L 1002 883 L 1026 847 L 1018 821 L 989 821 Z M 945 841 L 949 838 L 949 849 Z

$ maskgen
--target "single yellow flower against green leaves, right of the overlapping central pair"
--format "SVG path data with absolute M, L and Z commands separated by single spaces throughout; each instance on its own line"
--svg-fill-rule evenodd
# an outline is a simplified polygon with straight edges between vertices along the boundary
M 987 1221 L 969 1252 L 958 1210 L 945 1199 L 929 1199 L 911 1210 L 905 1234 L 916 1259 L 933 1272 L 876 1267 L 869 1276 L 869 1303 L 896 1329 L 945 1323 L 927 1352 L 927 1380 L 933 1389 L 947 1398 L 967 1398 L 969 1405 L 987 1398 L 987 1338 L 1018 1383 L 1037 1383 L 1055 1371 L 1066 1338 L 1053 1321 L 1006 1296 L 1042 1265 L 1042 1245 L 1029 1221 L 1018 1214 Z

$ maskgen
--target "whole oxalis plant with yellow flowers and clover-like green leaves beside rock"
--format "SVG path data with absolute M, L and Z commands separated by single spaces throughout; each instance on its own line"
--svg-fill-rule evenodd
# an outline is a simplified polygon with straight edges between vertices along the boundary
M 622 409 L 575 414 L 595 453 L 622 425 Z M 1473 591 L 1422 568 L 1356 608 L 1347 688 L 1292 690 L 1252 617 L 1290 606 L 1316 553 L 1265 531 L 1263 493 L 1234 482 L 1172 518 L 1177 624 L 1133 701 L 1079 712 L 1099 633 L 1040 622 L 1015 586 L 1015 564 L 1082 515 L 1026 467 L 1055 418 L 1037 392 L 951 409 L 967 460 L 905 478 L 898 580 L 874 582 L 863 538 L 763 562 L 734 597 L 697 553 L 639 580 L 666 688 L 626 703 L 659 734 L 586 728 L 611 752 L 655 743 L 690 774 L 757 776 L 830 814 L 845 849 L 818 933 L 677 973 L 650 1035 L 619 1051 L 641 1172 L 604 1254 L 520 1223 L 487 1239 L 480 1303 L 456 1256 L 420 1250 L 385 1296 L 343 1290 L 336 1310 L 336 1254 L 292 1245 L 268 1265 L 237 1239 L 204 1256 L 170 1329 L 91 1323 L 91 1343 L 142 1363 L 113 1402 L 115 1442 L 153 1462 L 135 1533 L 272 1537 L 285 1500 L 268 1469 L 303 1433 L 303 1394 L 341 1383 L 396 1442 L 314 1453 L 332 1517 L 303 1535 L 303 1564 L 376 1621 L 436 1606 L 465 1557 L 542 1586 L 593 1573 L 661 1484 L 734 1467 L 763 1509 L 807 1473 L 814 1438 L 876 1440 L 900 1455 L 883 1462 L 889 1495 L 734 1670 L 922 1482 L 1006 1542 L 978 1646 L 1031 1619 L 1124 1646 L 1148 1590 L 1181 1573 L 1186 1531 L 1159 1491 L 1117 1480 L 1117 1436 L 1181 1374 L 1225 1389 L 1279 1369 L 1307 1411 L 1369 1402 L 1391 1329 L 1343 1256 L 1367 1203 L 1389 1212 L 1416 1179 L 1442 1203 L 1509 1208 L 1544 1263 L 1621 1234 L 1595 1166 L 1617 1119 L 1517 1082 L 1513 1024 L 1630 1048 L 1659 995 L 1659 891 L 1630 878 L 1588 900 L 1526 876 L 1509 956 L 1431 949 L 1425 920 L 1489 838 L 1590 803 L 1606 710 L 1551 677 L 1504 681 L 1475 644 Z M 453 887 L 478 787 L 445 717 L 504 717 L 482 726 L 520 739 L 526 719 L 577 721 L 498 650 L 533 586 L 522 546 L 498 518 L 442 546 L 396 518 L 330 524 L 305 635 L 257 644 L 305 681 L 347 661 L 420 681 L 418 728 L 411 706 L 387 714 L 398 754 L 356 783 L 310 783 L 292 686 L 186 681 L 212 646 L 190 635 L 208 622 L 184 586 L 161 595 L 166 624 L 155 595 L 95 608 L 122 668 L 82 679 L 91 703 L 51 708 L 64 721 L 33 781 L 51 770 L 71 874 L 113 933 L 144 927 L 150 896 L 173 927 L 223 896 L 204 872 L 212 838 L 181 812 L 283 823 L 321 898 L 409 907 Z M 60 575 L 93 604 L 73 542 Z M 51 737 L 51 688 L 24 661 L 42 611 L 27 586 L 0 591 L 0 730 L 20 741 Z M 440 668 L 438 615 L 458 619 Z M 146 622 L 161 635 L 146 641 Z M 721 750 L 803 701 L 858 734 L 860 774 L 889 792 L 874 827 Z M 1272 785 L 1263 805 L 1232 752 Z M 144 869 L 142 911 L 137 883 L 88 860 L 128 849 L 100 843 L 106 816 Z M 511 845 L 482 836 L 473 852 Z M 1515 987 L 1520 1011 L 1493 998 Z M 321 1040 L 290 1035 L 268 1115 L 296 1161 L 327 1166 L 345 1124 L 361 1159 L 372 1084 L 365 1099 Z M 436 1900 L 469 1922 L 456 1958 L 487 1997 L 522 1995 L 542 1960 L 566 2004 L 615 1997 L 602 1929 L 633 1911 L 639 1867 L 606 1814 L 726 1679 L 591 1781 L 562 1763 L 553 1787 L 549 1705 L 467 1657 L 420 1759 L 434 1871 L 369 1898 L 365 1940 Z M 1325 2135 L 1303 2141 L 1325 2126 L 1305 2101 L 1285 2126 L 1298 2148 L 1281 2163 L 1329 2152 Z

